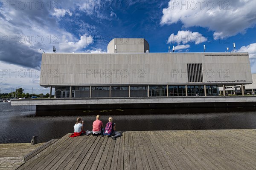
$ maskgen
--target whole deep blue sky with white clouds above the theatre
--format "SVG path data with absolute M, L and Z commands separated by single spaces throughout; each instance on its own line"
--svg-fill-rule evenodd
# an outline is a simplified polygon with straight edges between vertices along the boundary
M 41 53 L 106 52 L 114 37 L 145 38 L 150 52 L 249 52 L 256 72 L 255 0 L 6 1 L 0 9 L 1 93 L 39 86 Z

